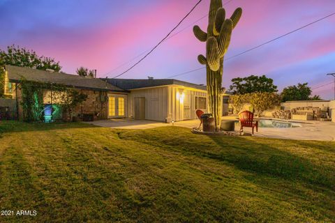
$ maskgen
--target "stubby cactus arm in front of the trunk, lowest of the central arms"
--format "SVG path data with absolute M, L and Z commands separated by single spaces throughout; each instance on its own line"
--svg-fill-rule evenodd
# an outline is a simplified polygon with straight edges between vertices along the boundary
M 211 70 L 217 71 L 220 68 L 220 57 L 218 56 L 218 41 L 214 36 L 207 40 L 207 63 Z

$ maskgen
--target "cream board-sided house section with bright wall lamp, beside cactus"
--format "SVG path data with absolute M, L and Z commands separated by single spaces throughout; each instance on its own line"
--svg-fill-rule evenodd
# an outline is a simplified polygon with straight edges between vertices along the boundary
M 170 123 L 198 118 L 195 115 L 198 109 L 207 112 L 207 87 L 203 85 L 176 79 L 103 80 L 130 92 L 125 99 L 128 118 Z M 117 98 L 115 95 L 112 100 L 118 100 Z M 223 105 L 223 114 L 227 113 L 228 105 Z M 117 112 L 114 115 L 117 117 Z

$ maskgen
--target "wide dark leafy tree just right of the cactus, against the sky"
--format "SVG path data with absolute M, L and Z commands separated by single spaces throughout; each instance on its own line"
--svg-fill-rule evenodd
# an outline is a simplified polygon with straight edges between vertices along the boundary
M 277 92 L 277 86 L 274 85 L 274 80 L 262 76 L 251 75 L 248 77 L 237 77 L 232 79 L 232 85 L 230 85 L 230 91 L 233 94 L 243 95 L 245 93 L 254 92 Z

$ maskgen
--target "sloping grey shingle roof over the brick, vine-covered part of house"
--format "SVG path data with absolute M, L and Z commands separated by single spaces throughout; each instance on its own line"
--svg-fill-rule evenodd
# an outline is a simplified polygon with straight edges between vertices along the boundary
M 104 82 L 99 78 L 80 77 L 78 75 L 69 75 L 64 72 L 49 72 L 46 70 L 36 70 L 34 68 L 23 68 L 10 65 L 6 65 L 5 70 L 8 72 L 8 79 L 10 82 L 20 82 L 20 79 L 23 77 L 30 81 L 64 84 L 75 89 L 125 92 L 123 89 Z

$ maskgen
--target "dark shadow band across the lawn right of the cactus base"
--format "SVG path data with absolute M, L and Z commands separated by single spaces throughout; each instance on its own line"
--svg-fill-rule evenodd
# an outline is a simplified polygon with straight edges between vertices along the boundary
M 208 153 L 207 156 L 233 164 L 243 171 L 255 174 L 280 177 L 286 180 L 303 180 L 306 183 L 322 185 L 334 190 L 335 178 L 332 172 L 313 164 L 304 157 L 288 151 L 281 151 L 268 144 L 260 144 L 246 138 L 234 138 L 242 145 L 230 147 L 230 143 L 222 137 L 209 137 L 218 146 L 224 148 L 222 153 Z M 289 143 L 292 143 L 291 141 Z M 308 143 L 304 143 L 304 146 Z M 230 150 L 229 153 L 227 150 Z

